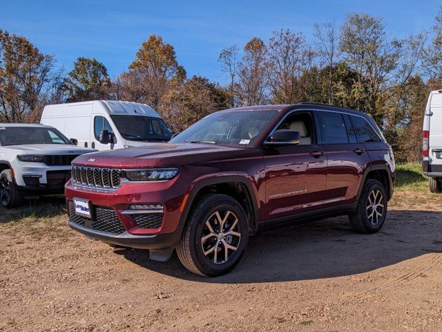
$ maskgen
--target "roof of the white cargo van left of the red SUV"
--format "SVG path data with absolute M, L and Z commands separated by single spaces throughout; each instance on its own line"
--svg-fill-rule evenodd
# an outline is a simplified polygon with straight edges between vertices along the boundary
M 160 118 L 160 115 L 147 104 L 140 102 L 124 102 L 121 100 L 91 100 L 88 102 L 70 102 L 66 104 L 52 104 L 45 107 L 48 109 L 57 109 L 57 107 L 73 107 L 81 104 L 101 104 L 111 116 L 151 116 Z

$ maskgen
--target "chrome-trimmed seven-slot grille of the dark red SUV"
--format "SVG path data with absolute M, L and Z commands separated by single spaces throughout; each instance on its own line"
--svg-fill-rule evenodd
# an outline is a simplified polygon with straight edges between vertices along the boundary
M 116 190 L 119 187 L 119 169 L 73 165 L 72 181 L 80 187 Z

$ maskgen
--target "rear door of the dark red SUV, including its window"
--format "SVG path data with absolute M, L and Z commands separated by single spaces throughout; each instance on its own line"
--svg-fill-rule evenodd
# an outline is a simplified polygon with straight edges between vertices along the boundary
M 327 151 L 327 185 L 324 208 L 351 203 L 358 194 L 370 158 L 358 142 L 350 118 L 345 113 L 317 111 L 321 137 Z

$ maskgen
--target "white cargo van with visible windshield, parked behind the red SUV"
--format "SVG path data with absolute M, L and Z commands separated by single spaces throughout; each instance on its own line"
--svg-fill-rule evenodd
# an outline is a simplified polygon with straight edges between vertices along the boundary
M 80 147 L 98 150 L 167 142 L 173 132 L 146 104 L 93 100 L 44 108 L 42 124 L 57 128 Z

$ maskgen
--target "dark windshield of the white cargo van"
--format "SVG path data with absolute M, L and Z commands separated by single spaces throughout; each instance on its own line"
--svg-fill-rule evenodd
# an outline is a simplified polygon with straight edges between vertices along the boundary
M 173 135 L 171 129 L 160 118 L 147 116 L 111 116 L 111 118 L 125 140 L 166 142 Z

